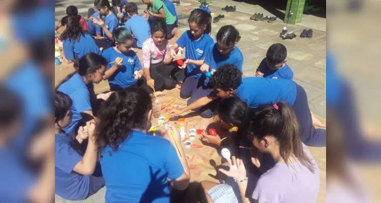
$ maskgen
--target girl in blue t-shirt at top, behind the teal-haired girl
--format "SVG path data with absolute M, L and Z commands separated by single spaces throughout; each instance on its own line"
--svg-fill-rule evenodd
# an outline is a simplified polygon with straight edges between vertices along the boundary
M 94 27 L 94 25 L 91 24 L 94 23 L 102 28 L 103 38 L 96 39 L 95 42 L 97 43 L 98 47 L 103 47 L 103 49 L 107 49 L 111 46 L 112 31 L 119 25 L 118 17 L 116 17 L 111 12 L 110 3 L 108 2 L 108 0 L 96 0 L 94 2 L 94 6 L 98 9 L 99 16 L 94 17 L 94 9 L 89 9 L 88 16 L 90 18 L 90 22 L 88 22 L 87 24 L 90 25 L 90 27 Z M 93 29 L 90 27 L 89 29 Z M 99 28 L 96 27 L 95 30 L 98 31 Z

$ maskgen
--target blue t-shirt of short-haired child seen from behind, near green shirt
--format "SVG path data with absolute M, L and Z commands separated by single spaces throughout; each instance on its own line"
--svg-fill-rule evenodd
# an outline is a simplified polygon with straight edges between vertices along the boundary
M 126 28 L 137 40 L 137 46 L 142 47 L 146 39 L 151 38 L 150 23 L 142 16 L 134 15 L 126 22 Z

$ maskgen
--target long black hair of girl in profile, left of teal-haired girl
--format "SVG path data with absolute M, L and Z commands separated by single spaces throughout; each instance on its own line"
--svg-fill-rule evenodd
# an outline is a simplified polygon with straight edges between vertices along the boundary
M 107 62 L 107 59 L 105 59 L 103 56 L 93 52 L 89 52 L 83 55 L 79 59 L 78 64 L 79 64 L 78 70 L 66 76 L 64 80 L 62 80 L 60 83 L 58 83 L 57 86 L 55 86 L 55 90 L 57 90 L 58 87 L 60 87 L 62 84 L 70 80 L 70 78 L 73 77 L 75 74 L 78 73 L 80 76 L 87 76 L 87 75 L 93 74 L 97 72 L 102 67 L 102 65 L 107 66 L 108 62 Z M 91 89 L 93 87 L 92 84 L 93 83 L 90 83 L 90 86 L 88 86 L 88 87 L 91 87 Z

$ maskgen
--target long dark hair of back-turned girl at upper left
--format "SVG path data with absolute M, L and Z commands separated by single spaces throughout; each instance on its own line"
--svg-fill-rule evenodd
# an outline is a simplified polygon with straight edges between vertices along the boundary
M 60 40 L 78 41 L 84 36 L 86 31 L 79 24 L 79 18 L 76 16 L 65 16 L 61 20 L 61 25 L 66 25 L 66 30 L 62 33 Z

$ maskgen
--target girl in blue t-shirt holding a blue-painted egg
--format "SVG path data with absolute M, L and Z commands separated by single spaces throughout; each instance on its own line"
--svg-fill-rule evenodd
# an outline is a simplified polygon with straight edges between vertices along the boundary
M 201 65 L 200 71 L 202 75 L 199 79 L 199 87 L 194 95 L 188 100 L 188 105 L 192 104 L 197 99 L 208 96 L 213 87 L 209 84 L 209 78 L 220 66 L 228 63 L 236 65 L 242 71 L 244 57 L 241 51 L 235 45 L 240 41 L 241 36 L 238 30 L 232 25 L 225 25 L 217 32 L 217 43 L 204 50 L 204 64 Z M 208 73 L 210 72 L 210 73 Z M 208 75 L 207 75 L 208 73 Z M 209 75 L 210 74 L 210 75 Z M 201 117 L 210 118 L 217 106 L 217 101 L 202 107 Z M 193 110 L 199 110 L 193 109 Z

